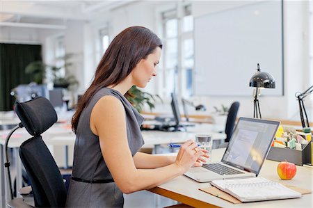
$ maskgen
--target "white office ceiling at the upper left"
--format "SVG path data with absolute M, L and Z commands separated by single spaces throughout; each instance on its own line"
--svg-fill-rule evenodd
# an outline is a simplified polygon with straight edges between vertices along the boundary
M 62 25 L 67 20 L 88 21 L 94 15 L 133 3 L 127 1 L 26 1 L 6 0 L 0 3 L 0 26 L 36 27 L 36 24 L 49 27 L 49 24 Z M 51 27 L 51 29 L 53 29 Z

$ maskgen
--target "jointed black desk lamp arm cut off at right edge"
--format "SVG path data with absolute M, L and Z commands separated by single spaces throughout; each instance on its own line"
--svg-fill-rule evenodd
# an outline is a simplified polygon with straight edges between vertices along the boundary
M 309 125 L 309 120 L 307 119 L 307 111 L 305 111 L 305 106 L 303 104 L 303 98 L 307 97 L 307 95 L 310 95 L 312 92 L 313 92 L 313 86 L 310 86 L 310 88 L 305 90 L 303 93 L 297 92 L 295 94 L 299 102 L 301 124 L 303 127 L 303 131 L 305 131 L 306 133 L 310 133 L 310 125 Z M 303 113 L 305 115 L 305 118 L 303 116 Z

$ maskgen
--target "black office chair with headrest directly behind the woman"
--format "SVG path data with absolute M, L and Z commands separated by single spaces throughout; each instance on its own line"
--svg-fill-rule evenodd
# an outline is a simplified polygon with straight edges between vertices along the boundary
M 54 107 L 48 99 L 37 97 L 24 103 L 16 102 L 15 111 L 33 136 L 19 147 L 19 156 L 31 182 L 35 207 L 64 207 L 67 191 L 63 177 L 41 136 L 57 120 Z M 25 207 L 25 202 L 16 198 L 8 202 L 8 206 Z

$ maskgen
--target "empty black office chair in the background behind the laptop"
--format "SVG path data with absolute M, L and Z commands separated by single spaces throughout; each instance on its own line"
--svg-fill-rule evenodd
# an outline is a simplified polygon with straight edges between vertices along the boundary
M 230 106 L 230 111 L 228 111 L 226 126 L 225 126 L 225 143 L 218 145 L 218 148 L 227 147 L 228 143 L 230 142 L 230 138 L 232 137 L 232 132 L 234 131 L 234 124 L 236 121 L 236 116 L 239 109 L 239 102 L 233 102 Z

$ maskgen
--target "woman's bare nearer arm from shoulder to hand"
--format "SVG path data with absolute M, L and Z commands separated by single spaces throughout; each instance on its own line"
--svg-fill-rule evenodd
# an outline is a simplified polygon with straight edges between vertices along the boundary
M 195 153 L 193 141 L 184 143 L 174 163 L 157 169 L 138 170 L 129 150 L 125 109 L 120 100 L 105 96 L 95 104 L 90 128 L 99 136 L 99 143 L 111 175 L 123 193 L 132 193 L 158 186 L 185 173 L 203 154 Z

